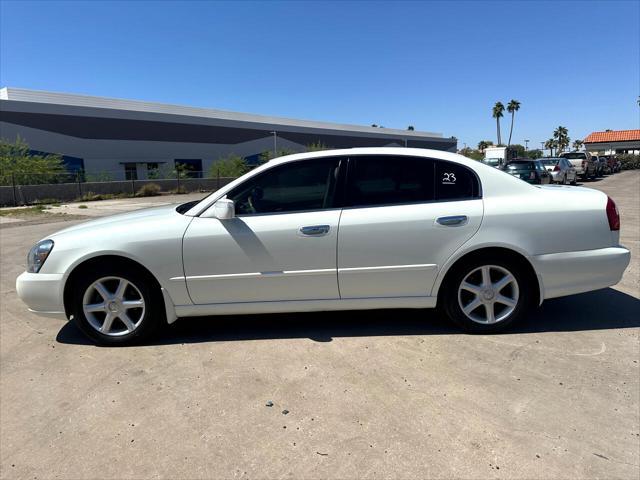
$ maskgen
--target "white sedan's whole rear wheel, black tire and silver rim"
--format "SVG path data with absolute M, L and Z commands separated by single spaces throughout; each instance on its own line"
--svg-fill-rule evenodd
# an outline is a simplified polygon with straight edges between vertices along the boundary
M 445 286 L 443 306 L 449 318 L 464 330 L 494 333 L 526 314 L 531 291 L 519 265 L 492 256 L 454 271 Z

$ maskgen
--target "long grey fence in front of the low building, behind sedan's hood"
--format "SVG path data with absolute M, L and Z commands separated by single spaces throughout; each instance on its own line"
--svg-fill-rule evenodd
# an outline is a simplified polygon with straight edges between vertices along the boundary
M 124 170 L 95 173 L 84 171 L 0 172 L 0 205 L 100 200 L 161 193 L 210 192 L 235 179 L 235 177 L 220 176 L 219 171 L 215 170 L 213 172 L 150 170 L 145 174 L 146 178 L 138 178 L 137 172 Z

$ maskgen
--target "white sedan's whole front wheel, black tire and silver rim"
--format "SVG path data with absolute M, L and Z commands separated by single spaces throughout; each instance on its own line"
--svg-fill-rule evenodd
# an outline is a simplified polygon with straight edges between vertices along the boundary
M 82 332 L 101 345 L 148 338 L 164 319 L 162 298 L 146 275 L 122 268 L 97 268 L 74 286 L 71 311 Z

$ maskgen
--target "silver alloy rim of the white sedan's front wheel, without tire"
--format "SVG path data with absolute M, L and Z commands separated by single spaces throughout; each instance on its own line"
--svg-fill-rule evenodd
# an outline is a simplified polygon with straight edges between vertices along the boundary
M 119 337 L 136 330 L 145 313 L 144 297 L 131 281 L 122 277 L 103 277 L 84 293 L 82 311 L 95 330 Z

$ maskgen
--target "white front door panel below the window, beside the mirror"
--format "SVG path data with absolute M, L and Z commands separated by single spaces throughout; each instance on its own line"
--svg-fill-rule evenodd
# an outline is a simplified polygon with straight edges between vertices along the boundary
M 339 298 L 340 210 L 194 218 L 184 236 L 184 271 L 195 304 Z M 300 228 L 328 225 L 323 236 Z M 182 280 L 184 281 L 184 280 Z

